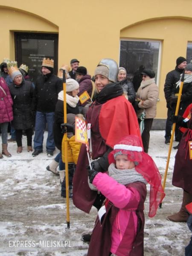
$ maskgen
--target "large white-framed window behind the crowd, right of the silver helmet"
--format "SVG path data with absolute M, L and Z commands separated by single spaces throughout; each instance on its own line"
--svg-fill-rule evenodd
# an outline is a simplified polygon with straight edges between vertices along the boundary
M 160 66 L 160 41 L 121 40 L 119 67 L 127 70 L 128 77 L 133 78 L 140 66 L 154 70 L 158 81 L 158 67 Z

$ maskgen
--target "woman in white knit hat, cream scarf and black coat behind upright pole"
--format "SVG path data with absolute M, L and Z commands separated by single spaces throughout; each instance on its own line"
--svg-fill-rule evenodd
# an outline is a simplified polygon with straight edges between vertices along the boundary
M 66 80 L 66 102 L 67 102 L 67 114 L 79 114 L 79 97 L 77 94 L 79 93 L 79 84 L 74 79 L 67 79 Z M 54 134 L 54 141 L 56 147 L 61 151 L 61 144 L 62 144 L 62 130 L 61 124 L 64 122 L 64 108 L 63 108 L 63 101 L 64 95 L 63 90 L 58 93 L 58 102 L 55 106 L 55 121 L 53 125 L 53 134 Z M 69 120 L 67 120 L 69 122 Z M 55 160 L 53 160 L 55 161 Z M 62 162 L 61 154 L 59 155 L 59 175 L 61 180 L 61 196 L 66 197 L 65 191 L 65 182 L 64 182 L 64 173 L 65 173 L 65 165 Z M 54 162 L 53 162 L 54 163 Z M 51 163 L 52 165 L 52 163 Z M 56 165 L 56 163 L 55 163 Z M 47 166 L 48 167 L 48 166 Z M 73 180 L 73 173 L 74 173 L 74 163 L 69 163 L 69 185 L 70 185 L 70 197 L 72 196 L 72 180 Z M 47 168 L 48 171 L 51 171 L 50 168 Z

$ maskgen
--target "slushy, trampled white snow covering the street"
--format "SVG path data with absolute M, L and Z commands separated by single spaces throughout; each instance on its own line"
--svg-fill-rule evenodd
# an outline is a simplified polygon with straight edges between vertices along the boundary
M 70 229 L 67 229 L 66 199 L 60 196 L 59 178 L 46 170 L 51 158 L 47 157 L 45 141 L 44 152 L 37 157 L 27 152 L 24 136 L 23 146 L 23 152 L 17 154 L 16 143 L 9 143 L 12 157 L 0 160 L 0 256 L 86 255 L 88 245 L 81 241 L 81 234 L 91 232 L 96 209 L 86 214 L 70 199 Z M 168 150 L 164 131 L 151 131 L 149 154 L 162 177 Z M 180 209 L 182 201 L 182 190 L 172 186 L 175 153 L 172 149 L 166 198 L 154 218 L 148 218 L 149 198 L 145 201 L 145 256 L 184 255 L 184 247 L 189 243 L 191 233 L 186 223 L 166 220 L 167 215 Z

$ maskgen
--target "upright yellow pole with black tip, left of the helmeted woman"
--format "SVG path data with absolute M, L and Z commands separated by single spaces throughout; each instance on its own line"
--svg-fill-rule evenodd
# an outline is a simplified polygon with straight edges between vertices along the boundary
M 66 78 L 65 70 L 63 70 L 63 106 L 64 106 L 64 123 L 67 123 L 67 102 L 66 102 Z M 68 156 L 67 156 L 67 132 L 64 133 L 62 139 L 62 161 L 65 163 L 65 186 L 66 186 L 66 200 L 67 200 L 67 228 L 70 228 L 70 211 L 69 211 L 69 170 L 68 170 Z

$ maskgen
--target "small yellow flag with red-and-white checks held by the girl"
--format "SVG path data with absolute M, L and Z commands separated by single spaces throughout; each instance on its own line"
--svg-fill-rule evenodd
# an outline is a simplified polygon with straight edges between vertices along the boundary
M 76 116 L 76 136 L 75 140 L 84 144 L 88 143 L 86 122 Z

